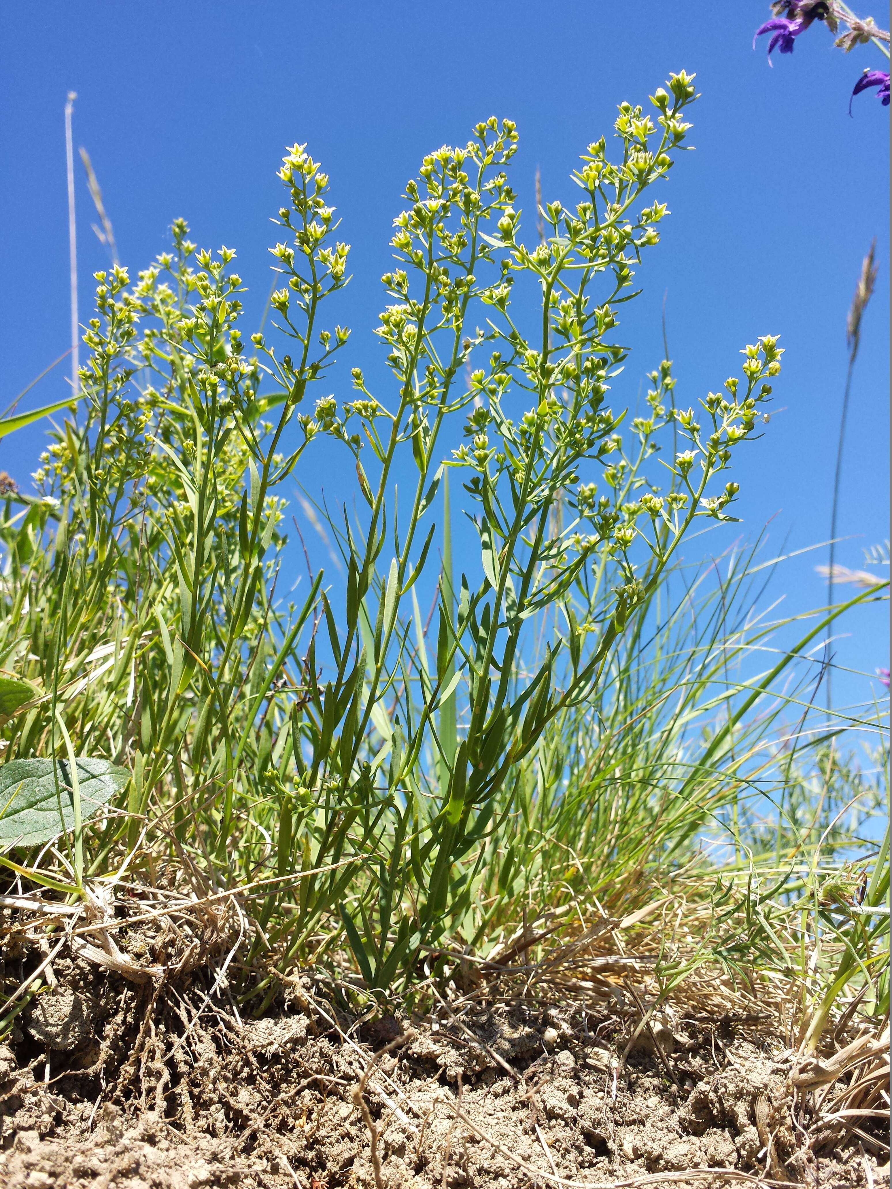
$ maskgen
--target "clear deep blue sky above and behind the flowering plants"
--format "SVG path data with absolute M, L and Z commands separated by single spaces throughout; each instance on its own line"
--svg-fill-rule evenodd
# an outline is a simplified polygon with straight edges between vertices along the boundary
M 670 70 L 684 68 L 697 73 L 703 95 L 691 117 L 696 152 L 660 188 L 672 216 L 639 272 L 643 296 L 623 313 L 622 339 L 634 352 L 615 403 L 634 403 L 641 377 L 662 356 L 666 292 L 683 403 L 736 371 L 745 342 L 781 334 L 787 353 L 775 413 L 739 465 L 739 514 L 749 534 L 771 520 L 777 548 L 825 540 L 846 313 L 877 237 L 880 275 L 855 373 L 840 521 L 850 540 L 838 560 L 860 566 L 862 547 L 888 533 L 888 109 L 869 92 L 850 119 L 848 102 L 861 70 L 882 62 L 873 48 L 848 57 L 833 50 L 816 25 L 769 69 L 764 39 L 752 49 L 767 15 L 759 0 L 7 0 L 0 7 L 0 405 L 69 342 L 69 89 L 80 96 L 75 145 L 93 158 L 132 275 L 164 249 L 165 228 L 183 215 L 201 245 L 237 249 L 258 314 L 275 235 L 268 219 L 279 205 L 275 169 L 285 144 L 308 141 L 332 176 L 343 234 L 353 245 L 354 279 L 339 317 L 353 327 L 354 361 L 379 352 L 371 332 L 390 221 L 425 151 L 464 143 L 490 114 L 516 120 L 514 184 L 533 238 L 536 166 L 546 200 L 576 201 L 567 175 L 585 144 L 610 132 L 615 105 L 646 102 Z M 90 272 L 106 256 L 89 229 L 95 216 L 80 172 L 77 201 L 86 320 Z M 62 372 L 29 402 L 62 396 Z M 333 386 L 347 396 L 343 379 Z M 34 428 L 0 442 L 0 467 L 23 485 L 40 436 Z M 325 449 L 308 457 L 309 490 L 327 482 L 332 492 L 332 461 Z M 819 560 L 823 552 L 786 571 L 791 610 L 821 603 Z M 847 627 L 841 659 L 868 672 L 887 663 L 884 609 Z M 871 684 L 852 678 L 844 688 L 861 699 Z

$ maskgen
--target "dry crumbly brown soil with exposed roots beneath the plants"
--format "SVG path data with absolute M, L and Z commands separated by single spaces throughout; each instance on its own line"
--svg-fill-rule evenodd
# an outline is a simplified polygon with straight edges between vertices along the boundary
M 357 1019 L 304 975 L 249 1020 L 200 970 L 54 977 L 0 1045 L 4 1189 L 888 1185 L 887 1120 L 816 1131 L 769 1012 Z

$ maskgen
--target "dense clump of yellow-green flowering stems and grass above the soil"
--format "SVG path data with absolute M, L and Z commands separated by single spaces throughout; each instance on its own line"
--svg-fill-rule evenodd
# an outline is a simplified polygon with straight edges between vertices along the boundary
M 617 158 L 603 137 L 588 146 L 579 205 L 544 206 L 533 247 L 508 182 L 511 121 L 427 156 L 383 278 L 389 377 L 353 367 L 348 401 L 312 403 L 348 338 L 327 321 L 348 249 L 303 146 L 279 171 L 275 342 L 255 333 L 247 348 L 234 253 L 197 251 L 182 221 L 136 283 L 96 275 L 86 414 L 52 433 L 40 496 L 11 497 L 0 524 L 0 665 L 34 692 L 4 726 L 5 757 L 130 775 L 67 851 L 0 858 L 11 872 L 75 893 L 125 864 L 241 888 L 246 994 L 271 987 L 270 967 L 344 951 L 368 992 L 407 988 L 452 954 L 485 957 L 530 914 L 622 913 L 683 872 L 714 911 L 698 956 L 667 952 L 670 981 L 706 957 L 746 973 L 753 946 L 791 973 L 791 945 L 829 927 L 853 956 L 828 987 L 875 982 L 887 917 L 884 933 L 844 897 L 822 907 L 838 829 L 821 843 L 833 870 L 803 875 L 855 779 L 840 779 L 848 723 L 791 728 L 809 673 L 789 677 L 879 584 L 796 638 L 792 621 L 752 614 L 755 552 L 728 542 L 721 571 L 679 552 L 695 522 L 728 531 L 725 472 L 780 371 L 777 339 L 747 346 L 742 375 L 697 409 L 677 407 L 668 360 L 645 415 L 609 404 L 627 358 L 617 309 L 666 214 L 646 191 L 696 97 L 684 74 L 667 86 L 655 122 L 621 105 Z M 316 572 L 291 603 L 282 491 L 319 435 L 352 455 L 362 512 L 329 517 L 341 586 Z M 816 761 L 836 784 L 806 823 Z M 703 855 L 710 837 L 728 851 Z M 768 869 L 799 940 L 760 908 L 735 950 L 722 921 L 759 900 L 753 873 Z M 868 907 L 884 869 L 885 854 Z

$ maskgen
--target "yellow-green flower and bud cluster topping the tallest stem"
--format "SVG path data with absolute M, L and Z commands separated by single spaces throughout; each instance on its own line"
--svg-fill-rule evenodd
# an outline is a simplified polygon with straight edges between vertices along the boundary
M 508 247 L 509 257 L 502 260 L 502 278 L 480 291 L 482 300 L 507 314 L 513 277 L 532 273 L 542 288 L 548 334 L 541 344 L 524 340 L 514 327 L 491 335 L 501 338 L 508 351 L 494 354 L 489 370 L 478 367 L 471 373 L 469 391 L 475 401 L 485 402 L 485 414 L 482 408 L 469 415 L 467 440 L 453 460 L 477 472 L 469 490 L 484 502 L 488 490 L 497 490 L 501 476 L 510 476 L 513 498 L 523 503 L 527 517 L 535 508 L 549 508 L 557 492 L 576 489 L 571 507 L 595 533 L 567 530 L 564 543 L 549 541 L 549 566 L 572 568 L 580 542 L 585 552 L 602 543 L 622 554 L 635 540 L 640 516 L 666 521 L 689 498 L 681 495 L 670 501 L 648 492 L 642 501 L 627 498 L 630 485 L 643 480 L 634 477 L 635 468 L 623 455 L 622 438 L 615 433 L 618 419 L 603 408 L 609 379 L 616 375 L 611 369 L 624 358 L 621 347 L 607 341 L 617 323 L 614 300 L 630 284 L 640 250 L 658 241 L 655 225 L 667 213 L 665 203 L 653 202 L 637 214 L 633 206 L 668 170 L 671 153 L 689 127 L 679 113 L 695 97 L 692 80 L 673 76 L 668 87 L 671 95 L 661 90 L 654 99 L 660 112 L 659 141 L 652 143 L 657 125 L 640 107 L 621 105 L 615 127 L 623 143 L 622 161 L 608 158 L 604 138 L 589 146 L 582 169 L 573 175 L 588 191 L 586 200 L 574 212 L 561 202 L 546 203 L 541 213 L 551 233 L 541 243 L 529 249 L 520 241 L 520 215 L 508 201 L 496 221 L 497 235 L 489 240 Z M 408 234 L 410 216 L 403 218 L 402 229 Z M 407 245 L 401 238 L 395 246 Z M 602 273 L 613 277 L 605 301 L 593 296 L 592 281 Z M 645 457 L 657 448 L 653 439 L 665 424 L 665 402 L 674 385 L 667 363 L 652 382 L 651 415 L 635 419 L 632 427 Z M 517 420 L 503 407 L 513 385 L 535 397 Z M 611 454 L 618 454 L 618 460 L 610 460 Z M 585 459 L 607 464 L 603 477 L 613 495 L 598 497 L 595 484 L 577 487 Z M 497 530 L 505 535 L 508 526 Z

